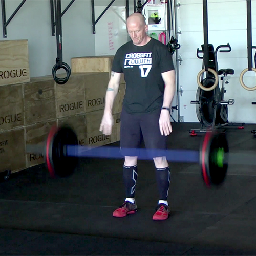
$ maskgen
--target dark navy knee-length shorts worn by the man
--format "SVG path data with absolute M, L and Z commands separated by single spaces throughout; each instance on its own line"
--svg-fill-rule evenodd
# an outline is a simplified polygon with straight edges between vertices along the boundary
M 142 140 L 150 149 L 150 157 L 164 156 L 167 149 L 167 136 L 161 135 L 159 117 L 161 110 L 146 114 L 121 113 L 120 147 L 123 156 L 137 156 L 129 148 L 139 148 Z M 156 150 L 156 151 L 152 151 Z M 160 150 L 158 152 L 157 150 Z M 153 153 L 152 153 L 153 152 Z

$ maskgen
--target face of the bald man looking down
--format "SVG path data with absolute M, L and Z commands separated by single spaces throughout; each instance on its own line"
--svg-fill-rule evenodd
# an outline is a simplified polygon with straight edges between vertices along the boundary
M 142 25 L 139 22 L 129 22 L 127 24 L 127 31 L 135 45 L 140 45 L 146 38 L 147 25 Z

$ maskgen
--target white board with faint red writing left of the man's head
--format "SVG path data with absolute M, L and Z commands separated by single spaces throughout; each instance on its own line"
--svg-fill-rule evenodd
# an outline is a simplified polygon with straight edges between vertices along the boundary
M 104 6 L 95 6 L 95 19 L 104 11 Z M 117 49 L 128 41 L 125 6 L 111 6 L 96 24 L 96 56 L 115 55 Z

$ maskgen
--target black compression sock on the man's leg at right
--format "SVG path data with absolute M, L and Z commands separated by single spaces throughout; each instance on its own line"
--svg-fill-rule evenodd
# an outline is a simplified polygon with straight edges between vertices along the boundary
M 167 200 L 170 185 L 170 167 L 156 168 L 157 186 L 160 200 Z

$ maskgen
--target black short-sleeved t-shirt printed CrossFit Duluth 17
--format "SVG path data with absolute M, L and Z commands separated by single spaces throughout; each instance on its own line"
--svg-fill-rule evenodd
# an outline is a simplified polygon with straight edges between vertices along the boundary
M 115 54 L 112 71 L 124 74 L 124 110 L 131 114 L 160 110 L 164 93 L 161 73 L 170 70 L 174 70 L 172 54 L 154 38 L 144 46 L 136 46 L 133 41 L 121 46 Z

